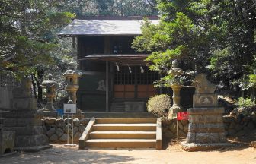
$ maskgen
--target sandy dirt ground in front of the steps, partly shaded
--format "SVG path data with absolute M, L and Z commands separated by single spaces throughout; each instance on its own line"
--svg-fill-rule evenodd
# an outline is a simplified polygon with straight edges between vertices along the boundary
M 208 152 L 185 152 L 178 142 L 172 142 L 165 150 L 78 150 L 54 144 L 53 148 L 39 152 L 18 152 L 0 158 L 0 163 L 171 163 L 171 164 L 255 164 L 256 150 L 245 145 L 224 147 Z

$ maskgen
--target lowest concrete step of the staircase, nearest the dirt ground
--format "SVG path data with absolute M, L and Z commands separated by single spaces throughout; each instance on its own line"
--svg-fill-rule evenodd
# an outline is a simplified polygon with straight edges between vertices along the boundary
M 155 143 L 155 140 L 145 139 L 91 139 L 85 142 L 85 146 L 103 148 L 155 148 Z

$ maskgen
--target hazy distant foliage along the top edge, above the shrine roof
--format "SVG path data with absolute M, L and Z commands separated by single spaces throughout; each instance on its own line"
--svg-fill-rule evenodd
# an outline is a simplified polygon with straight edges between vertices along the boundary
M 82 16 L 143 16 L 156 15 L 155 0 L 64 0 L 59 11 L 69 11 Z

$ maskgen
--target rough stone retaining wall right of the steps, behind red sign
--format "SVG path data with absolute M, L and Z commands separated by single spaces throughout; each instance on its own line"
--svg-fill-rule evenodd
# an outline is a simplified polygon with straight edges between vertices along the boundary
M 227 137 L 239 137 L 256 129 L 256 115 L 223 116 L 224 127 Z M 176 119 L 162 121 L 162 137 L 165 139 L 174 139 L 177 136 Z M 188 131 L 188 121 L 178 121 L 179 137 L 186 137 Z

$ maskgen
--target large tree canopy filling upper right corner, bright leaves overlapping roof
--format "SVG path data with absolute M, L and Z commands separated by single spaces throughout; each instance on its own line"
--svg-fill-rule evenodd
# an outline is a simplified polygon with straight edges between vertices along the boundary
M 159 0 L 157 5 L 160 25 L 146 23 L 133 42 L 139 51 L 153 51 L 147 59 L 152 70 L 166 72 L 176 59 L 226 88 L 256 70 L 255 1 Z

